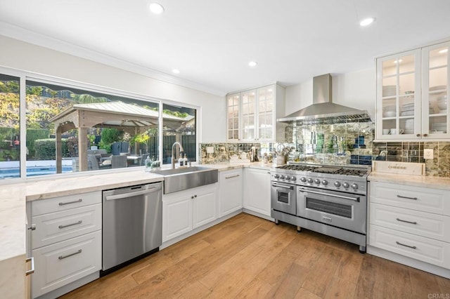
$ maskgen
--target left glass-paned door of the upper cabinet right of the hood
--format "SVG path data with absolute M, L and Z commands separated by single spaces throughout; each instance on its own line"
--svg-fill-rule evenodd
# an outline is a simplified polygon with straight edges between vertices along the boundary
M 377 138 L 411 138 L 420 131 L 420 50 L 377 60 Z

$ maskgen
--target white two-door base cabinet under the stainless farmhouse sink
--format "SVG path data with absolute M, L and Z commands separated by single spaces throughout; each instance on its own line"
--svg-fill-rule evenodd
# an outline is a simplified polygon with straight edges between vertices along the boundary
M 217 184 L 162 196 L 162 242 L 217 219 Z

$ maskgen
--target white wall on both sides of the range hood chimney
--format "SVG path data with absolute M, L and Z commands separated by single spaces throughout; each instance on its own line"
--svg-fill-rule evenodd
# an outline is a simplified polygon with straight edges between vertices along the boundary
M 332 74 L 333 102 L 356 109 L 368 110 L 375 117 L 376 91 L 375 65 L 373 69 L 364 69 L 346 74 Z M 312 78 L 301 84 L 286 88 L 286 115 L 312 104 Z

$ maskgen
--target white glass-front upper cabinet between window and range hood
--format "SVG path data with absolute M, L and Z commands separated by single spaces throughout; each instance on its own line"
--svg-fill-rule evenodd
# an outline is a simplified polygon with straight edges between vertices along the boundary
M 226 131 L 229 141 L 282 141 L 285 90 L 277 84 L 226 96 Z

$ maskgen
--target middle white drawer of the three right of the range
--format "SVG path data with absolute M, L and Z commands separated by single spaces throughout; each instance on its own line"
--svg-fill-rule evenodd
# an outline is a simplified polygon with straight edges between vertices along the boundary
M 406 208 L 371 204 L 371 224 L 450 242 L 450 217 Z

